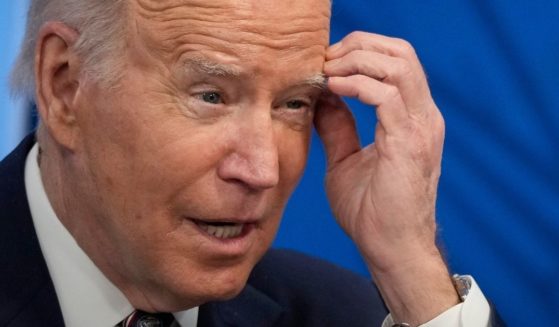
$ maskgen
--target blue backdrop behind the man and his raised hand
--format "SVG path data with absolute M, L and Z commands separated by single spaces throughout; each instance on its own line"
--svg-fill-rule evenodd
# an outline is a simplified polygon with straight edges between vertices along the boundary
M 24 10 L 14 2 L 0 4 L 0 157 L 28 120 L 6 95 Z M 333 10 L 332 41 L 359 29 L 415 46 L 447 124 L 437 214 L 449 263 L 476 277 L 510 326 L 559 321 L 558 13 L 555 0 L 345 0 Z M 371 142 L 374 110 L 349 102 Z M 275 246 L 368 275 L 331 217 L 324 169 L 315 138 Z

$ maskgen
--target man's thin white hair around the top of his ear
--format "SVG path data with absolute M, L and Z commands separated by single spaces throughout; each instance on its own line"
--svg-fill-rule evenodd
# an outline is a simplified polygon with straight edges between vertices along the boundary
M 74 50 L 83 72 L 100 83 L 116 83 L 125 47 L 126 0 L 31 0 L 21 52 L 11 75 L 14 96 L 32 100 L 35 95 L 35 47 L 41 26 L 62 22 L 79 38 Z

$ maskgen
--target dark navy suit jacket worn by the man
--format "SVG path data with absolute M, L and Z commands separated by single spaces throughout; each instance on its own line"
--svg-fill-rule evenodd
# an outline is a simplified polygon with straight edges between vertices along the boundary
M 0 162 L 0 326 L 64 326 L 27 203 L 28 136 Z M 371 282 L 293 251 L 270 250 L 234 299 L 202 305 L 198 326 L 380 326 Z

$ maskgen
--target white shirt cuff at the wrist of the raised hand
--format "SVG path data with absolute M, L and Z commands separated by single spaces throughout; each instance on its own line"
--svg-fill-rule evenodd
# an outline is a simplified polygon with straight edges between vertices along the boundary
M 491 307 L 472 276 L 461 276 L 471 282 L 464 302 L 441 313 L 433 320 L 418 327 L 490 327 Z M 389 314 L 382 327 L 392 327 L 394 321 Z

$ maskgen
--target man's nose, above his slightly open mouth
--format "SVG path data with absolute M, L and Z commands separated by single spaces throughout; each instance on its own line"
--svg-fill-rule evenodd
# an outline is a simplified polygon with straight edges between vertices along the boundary
M 251 190 L 276 186 L 279 182 L 278 144 L 270 113 L 241 117 L 233 130 L 231 151 L 219 164 L 219 177 Z

